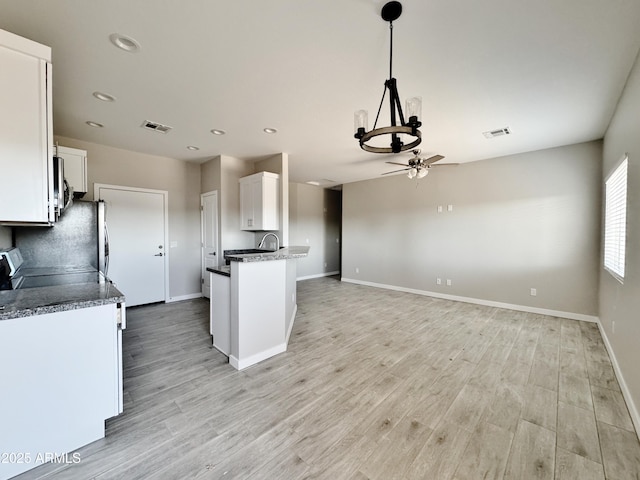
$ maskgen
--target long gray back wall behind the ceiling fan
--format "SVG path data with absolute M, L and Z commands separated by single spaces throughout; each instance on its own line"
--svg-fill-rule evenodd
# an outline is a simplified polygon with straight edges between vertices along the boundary
M 347 184 L 342 277 L 595 318 L 601 156 L 590 142 Z

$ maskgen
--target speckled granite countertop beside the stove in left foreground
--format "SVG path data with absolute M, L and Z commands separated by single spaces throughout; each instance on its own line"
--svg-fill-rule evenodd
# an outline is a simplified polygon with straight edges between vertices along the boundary
M 0 291 L 0 321 L 79 308 L 124 303 L 109 281 Z

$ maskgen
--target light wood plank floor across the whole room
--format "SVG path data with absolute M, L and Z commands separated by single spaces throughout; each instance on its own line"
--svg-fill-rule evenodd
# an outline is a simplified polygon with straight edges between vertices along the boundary
M 21 479 L 640 478 L 595 324 L 298 283 L 289 350 L 242 372 L 208 302 L 129 310 L 125 413 Z

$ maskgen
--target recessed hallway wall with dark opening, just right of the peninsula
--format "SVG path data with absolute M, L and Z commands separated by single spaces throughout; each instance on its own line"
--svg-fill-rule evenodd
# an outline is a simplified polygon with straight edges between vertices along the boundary
M 297 260 L 297 277 L 340 271 L 341 193 L 302 183 L 289 184 L 291 245 L 308 245 Z

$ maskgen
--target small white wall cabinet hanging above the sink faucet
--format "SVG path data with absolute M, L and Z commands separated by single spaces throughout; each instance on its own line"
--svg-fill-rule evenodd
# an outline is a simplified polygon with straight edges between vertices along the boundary
M 280 175 L 260 172 L 240 179 L 240 224 L 242 230 L 278 230 Z

